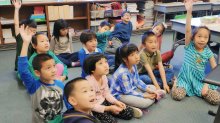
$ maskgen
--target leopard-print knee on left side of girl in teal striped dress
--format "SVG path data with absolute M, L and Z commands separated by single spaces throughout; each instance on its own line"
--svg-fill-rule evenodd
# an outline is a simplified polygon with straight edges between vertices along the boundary
M 186 96 L 186 90 L 181 87 L 173 88 L 172 98 L 174 100 L 180 101 Z

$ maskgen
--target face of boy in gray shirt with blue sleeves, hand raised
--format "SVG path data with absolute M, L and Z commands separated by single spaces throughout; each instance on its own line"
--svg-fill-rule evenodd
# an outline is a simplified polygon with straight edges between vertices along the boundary
M 51 80 L 56 79 L 57 69 L 55 67 L 54 59 L 47 60 L 42 63 L 42 67 L 40 69 L 40 74 L 37 74 L 42 80 L 45 82 L 49 82 Z

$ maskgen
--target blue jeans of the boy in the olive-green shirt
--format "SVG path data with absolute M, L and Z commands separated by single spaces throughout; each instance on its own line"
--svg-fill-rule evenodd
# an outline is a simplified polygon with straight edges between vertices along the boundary
M 174 77 L 174 71 L 172 68 L 164 68 L 165 73 L 166 73 L 166 80 L 167 80 L 167 84 L 171 85 L 172 84 L 172 78 Z M 163 81 L 160 77 L 160 71 L 159 70 L 153 70 L 154 76 L 158 82 L 158 85 L 160 86 L 160 88 L 163 88 Z M 147 73 L 143 73 L 140 74 L 140 79 L 147 85 L 149 84 L 153 84 L 150 76 Z

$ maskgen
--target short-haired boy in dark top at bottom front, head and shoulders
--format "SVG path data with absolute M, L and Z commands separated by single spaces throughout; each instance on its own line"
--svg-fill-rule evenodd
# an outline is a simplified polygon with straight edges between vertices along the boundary
M 63 114 L 64 123 L 100 123 L 91 113 L 96 104 L 95 91 L 86 79 L 70 80 L 64 87 L 64 94 L 74 107 Z

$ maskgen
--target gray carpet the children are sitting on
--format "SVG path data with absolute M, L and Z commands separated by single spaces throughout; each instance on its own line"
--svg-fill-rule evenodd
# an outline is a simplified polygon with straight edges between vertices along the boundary
M 141 36 L 132 36 L 132 42 L 138 44 Z M 163 37 L 162 52 L 171 48 L 172 33 L 166 32 Z M 74 50 L 79 50 L 81 44 L 73 43 Z M 0 123 L 30 123 L 30 97 L 21 82 L 17 82 L 14 72 L 15 50 L 0 51 Z M 176 73 L 183 59 L 183 47 L 179 47 L 171 61 Z M 80 75 L 80 68 L 69 69 L 69 79 Z M 130 121 L 119 120 L 120 123 L 212 123 L 214 117 L 208 115 L 208 110 L 217 110 L 197 97 L 187 97 L 181 102 L 173 101 L 170 95 L 151 106 L 149 112 L 144 112 L 140 119 Z M 65 109 L 64 109 L 65 110 Z

